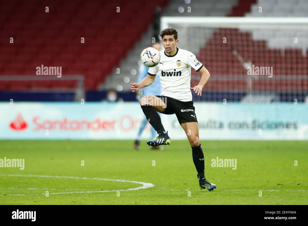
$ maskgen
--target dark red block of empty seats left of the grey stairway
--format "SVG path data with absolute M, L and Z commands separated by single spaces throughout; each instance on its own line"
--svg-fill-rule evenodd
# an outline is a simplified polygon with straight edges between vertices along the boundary
M 0 3 L 0 75 L 35 75 L 37 66 L 62 66 L 63 74 L 84 75 L 85 88 L 97 89 L 151 24 L 156 6 L 164 6 L 168 1 L 142 2 L 21 0 Z M 110 9 L 116 10 L 119 5 L 120 13 L 114 17 Z M 9 42 L 10 37 L 14 43 Z M 82 37 L 84 43 L 81 43 Z M 62 86 L 74 87 L 75 84 L 74 81 L 64 84 L 2 81 L 0 89 Z

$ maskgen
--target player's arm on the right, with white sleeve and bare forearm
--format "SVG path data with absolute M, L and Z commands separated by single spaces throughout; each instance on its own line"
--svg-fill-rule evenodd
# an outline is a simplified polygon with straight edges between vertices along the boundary
M 195 87 L 190 87 L 197 95 L 201 96 L 202 88 L 205 86 L 205 84 L 209 81 L 210 78 L 210 73 L 209 71 L 205 68 L 201 62 L 197 60 L 197 57 L 189 52 L 188 58 L 187 58 L 188 65 L 192 67 L 192 69 L 195 69 L 195 71 L 199 72 L 201 74 L 201 80 L 198 85 Z

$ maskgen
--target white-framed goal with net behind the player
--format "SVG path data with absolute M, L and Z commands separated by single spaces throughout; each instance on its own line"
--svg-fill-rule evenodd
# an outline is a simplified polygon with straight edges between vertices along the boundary
M 211 74 L 194 101 L 308 102 L 308 18 L 162 17 L 167 27 Z

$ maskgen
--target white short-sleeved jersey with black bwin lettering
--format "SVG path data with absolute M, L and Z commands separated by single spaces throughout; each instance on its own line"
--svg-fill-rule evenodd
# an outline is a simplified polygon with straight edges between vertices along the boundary
M 172 97 L 179 101 L 192 101 L 190 89 L 191 68 L 199 71 L 203 65 L 189 51 L 176 47 L 176 54 L 167 56 L 160 51 L 160 62 L 148 70 L 149 75 L 160 76 L 161 96 Z

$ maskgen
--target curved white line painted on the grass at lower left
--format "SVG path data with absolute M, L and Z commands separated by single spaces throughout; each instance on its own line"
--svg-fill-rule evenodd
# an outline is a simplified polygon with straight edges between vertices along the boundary
M 154 186 L 154 184 L 151 184 L 151 183 L 140 182 L 140 181 L 133 181 L 133 180 L 117 180 L 117 179 L 106 179 L 106 178 L 88 178 L 88 177 L 76 177 L 76 176 L 45 176 L 45 175 L 20 175 L 20 174 L 0 174 L 0 176 L 66 178 L 66 179 L 82 179 L 82 180 L 109 180 L 109 181 L 119 181 L 119 182 L 128 182 L 128 183 L 142 184 L 142 186 L 137 187 L 137 188 L 128 188 L 128 189 L 119 189 L 119 190 L 105 190 L 105 191 L 86 191 L 86 192 L 55 192 L 55 193 L 49 193 L 49 195 L 76 194 L 76 193 L 95 193 L 95 192 L 135 191 L 135 190 L 139 190 L 139 189 L 151 188 L 151 187 Z M 42 194 L 39 194 L 39 193 L 37 193 L 37 194 L 8 194 L 7 196 L 45 195 L 45 194 L 46 193 L 42 193 Z M 0 195 L 0 196 L 4 196 L 4 195 Z

